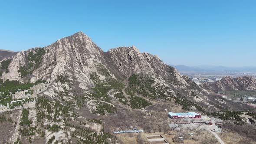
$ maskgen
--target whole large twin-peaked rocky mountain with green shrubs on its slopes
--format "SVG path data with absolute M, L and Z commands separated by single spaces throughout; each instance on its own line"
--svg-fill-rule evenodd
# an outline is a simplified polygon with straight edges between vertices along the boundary
M 156 121 L 141 108 L 159 99 L 187 110 L 202 110 L 197 102 L 210 105 L 200 87 L 157 56 L 135 46 L 103 52 L 82 32 L 5 58 L 0 72 L 0 114 L 15 122 L 9 143 L 116 143 L 105 131 L 127 126 L 109 121 L 115 113 Z

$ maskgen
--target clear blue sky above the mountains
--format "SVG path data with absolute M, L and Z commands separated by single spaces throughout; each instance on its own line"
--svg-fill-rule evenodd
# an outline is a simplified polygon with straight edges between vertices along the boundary
M 256 0 L 0 1 L 0 49 L 79 31 L 104 51 L 134 45 L 167 64 L 256 66 Z

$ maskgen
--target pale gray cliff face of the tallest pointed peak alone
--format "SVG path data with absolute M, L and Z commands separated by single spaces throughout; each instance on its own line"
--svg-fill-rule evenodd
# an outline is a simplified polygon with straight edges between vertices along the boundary
M 31 81 L 53 81 L 57 75 L 67 75 L 69 79 L 78 79 L 83 89 L 92 86 L 89 73 L 95 71 L 93 61 L 102 61 L 103 51 L 88 36 L 82 32 L 75 33 L 59 39 L 45 49 L 49 52 L 43 56 L 43 65 L 33 72 Z

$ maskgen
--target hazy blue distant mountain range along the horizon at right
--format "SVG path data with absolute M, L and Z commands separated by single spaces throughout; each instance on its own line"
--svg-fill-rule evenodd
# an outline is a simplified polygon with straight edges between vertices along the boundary
M 187 65 L 171 65 L 180 72 L 256 72 L 256 66 L 243 67 L 227 67 L 227 66 L 187 66 Z

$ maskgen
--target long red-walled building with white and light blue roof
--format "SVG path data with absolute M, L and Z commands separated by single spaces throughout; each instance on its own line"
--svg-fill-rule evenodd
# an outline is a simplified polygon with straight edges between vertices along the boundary
M 201 118 L 201 114 L 197 114 L 195 112 L 185 112 L 185 113 L 168 112 L 168 116 L 172 119 L 177 119 L 177 118 Z

